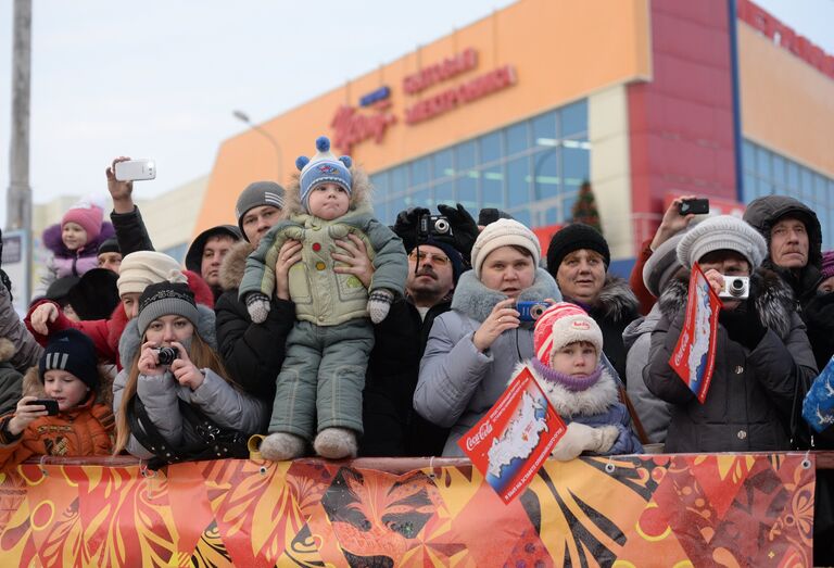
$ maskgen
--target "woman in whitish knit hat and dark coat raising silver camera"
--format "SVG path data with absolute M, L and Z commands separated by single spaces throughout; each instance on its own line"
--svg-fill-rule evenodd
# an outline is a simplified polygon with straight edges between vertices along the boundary
M 718 291 L 725 276 L 750 276 L 747 300 L 724 300 L 719 315 L 715 371 L 704 403 L 669 365 L 683 328 L 690 274 L 660 294 L 646 387 L 672 403 L 667 452 L 750 452 L 789 447 L 789 414 L 797 381 L 817 369 L 791 288 L 760 268 L 764 240 L 736 217 L 704 220 L 678 244 L 684 266 L 697 261 Z M 753 274 L 750 274 L 753 272 Z

